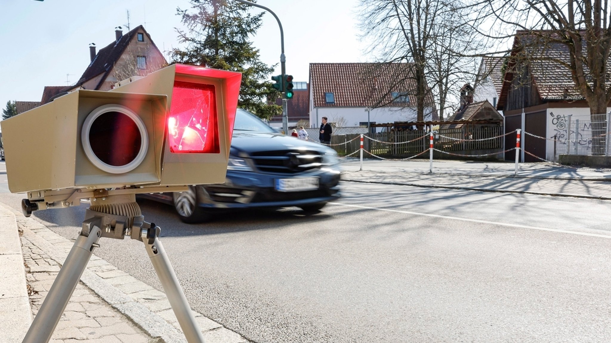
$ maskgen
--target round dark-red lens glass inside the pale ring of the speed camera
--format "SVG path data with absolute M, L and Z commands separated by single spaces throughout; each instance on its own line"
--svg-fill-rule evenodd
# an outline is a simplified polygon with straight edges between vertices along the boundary
M 140 152 L 142 137 L 128 115 L 111 111 L 96 118 L 89 129 L 91 150 L 108 165 L 130 164 Z

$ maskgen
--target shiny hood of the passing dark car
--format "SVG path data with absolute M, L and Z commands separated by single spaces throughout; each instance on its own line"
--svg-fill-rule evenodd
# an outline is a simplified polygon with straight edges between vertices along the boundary
M 276 133 L 234 133 L 231 146 L 232 150 L 238 150 L 244 153 L 277 150 L 314 150 L 320 153 L 334 151 L 319 143 Z

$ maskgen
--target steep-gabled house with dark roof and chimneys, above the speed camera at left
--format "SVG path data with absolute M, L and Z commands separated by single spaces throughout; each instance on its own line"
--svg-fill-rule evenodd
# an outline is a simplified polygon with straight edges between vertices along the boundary
M 146 76 L 167 65 L 165 57 L 142 25 L 125 35 L 118 27 L 114 42 L 97 53 L 95 50 L 94 44 L 89 46 L 89 67 L 75 85 L 65 90 L 110 90 L 119 81 L 131 76 Z

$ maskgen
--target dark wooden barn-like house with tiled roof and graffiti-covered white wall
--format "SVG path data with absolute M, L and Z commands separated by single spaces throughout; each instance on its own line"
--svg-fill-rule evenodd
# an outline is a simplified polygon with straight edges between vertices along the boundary
M 497 109 L 503 110 L 505 115 L 505 132 L 522 129 L 548 139 L 522 134 L 524 151 L 555 161 L 559 151 L 565 153 L 567 150 L 569 118 L 573 121 L 582 120 L 582 123 L 589 122 L 590 107 L 576 88 L 571 70 L 566 67 L 570 65 L 568 46 L 553 40 L 540 40 L 538 37 L 527 31 L 516 32 Z M 611 108 L 607 107 L 607 112 L 609 110 Z M 583 135 L 577 128 L 571 131 L 574 141 L 578 134 L 579 142 L 591 144 L 588 128 L 585 128 Z M 515 144 L 514 135 L 506 137 L 506 146 Z M 552 140 L 554 137 L 558 140 L 556 145 Z M 511 151 L 505 157 L 513 160 L 515 155 Z M 537 157 L 524 154 L 524 161 L 540 162 Z

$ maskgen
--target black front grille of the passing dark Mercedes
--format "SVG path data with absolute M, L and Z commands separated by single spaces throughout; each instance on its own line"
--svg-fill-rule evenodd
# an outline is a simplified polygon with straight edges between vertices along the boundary
M 268 173 L 296 174 L 318 170 L 323 165 L 323 156 L 317 151 L 261 151 L 251 157 L 258 170 Z

